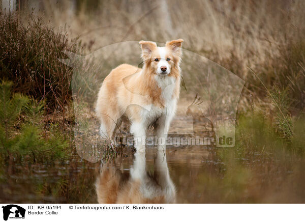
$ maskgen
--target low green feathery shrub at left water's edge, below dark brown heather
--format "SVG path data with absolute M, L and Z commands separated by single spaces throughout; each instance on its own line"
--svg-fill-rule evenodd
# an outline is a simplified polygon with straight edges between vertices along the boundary
M 51 127 L 42 136 L 43 102 L 21 94 L 11 94 L 12 82 L 0 84 L 0 155 L 8 161 L 27 158 L 45 162 L 66 156 L 65 138 Z

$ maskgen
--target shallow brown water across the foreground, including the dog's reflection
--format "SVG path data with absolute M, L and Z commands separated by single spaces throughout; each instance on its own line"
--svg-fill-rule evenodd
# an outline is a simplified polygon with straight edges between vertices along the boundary
M 106 163 L 90 163 L 76 154 L 71 161 L 55 165 L 15 165 L 11 175 L 2 169 L 0 202 L 98 203 L 105 197 L 117 203 L 304 201 L 303 165 L 260 156 L 236 159 L 231 151 L 204 146 L 167 147 L 165 155 L 147 147 L 144 156 L 124 148 Z M 113 197 L 113 187 L 103 183 L 96 189 L 98 179 L 115 184 L 117 195 Z

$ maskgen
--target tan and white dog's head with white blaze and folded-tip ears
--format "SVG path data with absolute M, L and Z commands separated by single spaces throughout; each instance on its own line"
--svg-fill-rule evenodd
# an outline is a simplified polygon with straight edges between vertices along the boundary
M 140 41 L 145 66 L 159 75 L 168 75 L 172 69 L 178 69 L 182 42 L 177 39 L 166 42 L 165 47 L 157 47 L 156 42 Z

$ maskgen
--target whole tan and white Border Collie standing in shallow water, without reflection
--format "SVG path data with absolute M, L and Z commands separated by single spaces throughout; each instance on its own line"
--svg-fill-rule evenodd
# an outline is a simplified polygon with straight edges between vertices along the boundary
M 170 122 L 180 92 L 182 39 L 166 42 L 140 41 L 143 68 L 122 64 L 113 69 L 100 88 L 96 115 L 100 134 L 111 141 L 124 119 L 131 123 L 134 147 L 145 151 L 146 130 L 154 126 L 158 149 L 165 150 Z

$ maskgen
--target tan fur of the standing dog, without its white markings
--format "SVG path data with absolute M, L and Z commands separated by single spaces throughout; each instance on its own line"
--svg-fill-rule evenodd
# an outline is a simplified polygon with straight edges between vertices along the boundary
M 175 86 L 172 93 L 172 100 L 179 98 L 180 91 L 180 47 L 183 40 L 173 40 L 166 43 L 166 58 L 170 73 L 166 78 L 173 77 Z M 123 64 L 113 69 L 104 79 L 103 85 L 98 94 L 96 104 L 96 115 L 100 119 L 103 132 L 107 137 L 112 138 L 118 126 L 118 119 L 123 115 L 132 123 L 141 123 L 143 107 L 149 105 L 160 108 L 160 112 L 167 106 L 164 96 L 164 88 L 160 88 L 156 80 L 157 66 L 155 59 L 160 59 L 158 47 L 155 42 L 140 41 L 142 48 L 143 70 L 135 66 Z M 159 82 L 160 84 L 160 82 Z M 157 119 L 158 117 L 156 117 Z M 170 122 L 170 121 L 169 121 Z M 151 123 L 145 123 L 148 125 Z M 106 134 L 106 133 L 105 133 Z

